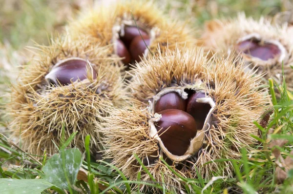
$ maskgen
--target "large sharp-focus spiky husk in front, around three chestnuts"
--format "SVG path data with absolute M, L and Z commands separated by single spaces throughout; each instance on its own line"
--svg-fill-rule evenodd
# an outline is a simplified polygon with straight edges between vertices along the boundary
M 209 93 L 216 107 L 212 113 L 212 122 L 205 132 L 207 147 L 198 154 L 179 162 L 181 170 L 171 168 L 186 178 L 197 176 L 196 170 L 205 178 L 215 175 L 231 177 L 233 168 L 230 161 L 212 162 L 217 159 L 239 159 L 240 149 L 250 152 L 256 141 L 258 128 L 253 120 L 258 120 L 265 111 L 269 98 L 258 90 L 259 76 L 245 72 L 243 62 L 234 66 L 232 57 L 207 59 L 202 50 L 167 52 L 137 64 L 134 77 L 129 83 L 134 102 L 131 108 L 111 110 L 106 118 L 105 134 L 107 150 L 105 155 L 112 158 L 112 164 L 122 170 L 131 180 L 143 171 L 134 154 L 142 161 L 147 155 L 156 155 L 158 141 L 149 136 L 149 119 L 154 115 L 147 101 L 167 87 L 196 85 L 202 80 L 205 91 Z M 143 102 L 139 103 L 138 101 Z M 206 164 L 207 162 L 211 162 Z M 159 182 L 166 183 L 168 189 L 181 188 L 176 177 L 161 160 L 146 166 L 150 174 Z M 149 181 L 150 176 L 141 174 L 141 180 Z

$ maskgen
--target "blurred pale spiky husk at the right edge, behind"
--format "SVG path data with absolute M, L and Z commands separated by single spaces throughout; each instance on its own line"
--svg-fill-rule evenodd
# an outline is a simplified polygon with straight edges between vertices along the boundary
M 240 14 L 236 19 L 213 20 L 207 23 L 206 30 L 202 36 L 203 45 L 207 50 L 218 53 L 219 56 L 231 53 L 237 40 L 247 35 L 256 33 L 264 40 L 276 40 L 285 47 L 287 52 L 284 61 L 259 61 L 251 60 L 247 64 L 258 68 L 258 74 L 265 73 L 263 81 L 273 77 L 278 84 L 282 83 L 282 64 L 284 62 L 284 74 L 288 89 L 293 91 L 293 37 L 292 28 L 287 25 L 272 25 L 270 20 L 261 18 L 254 20 Z M 236 56 L 237 53 L 234 52 Z

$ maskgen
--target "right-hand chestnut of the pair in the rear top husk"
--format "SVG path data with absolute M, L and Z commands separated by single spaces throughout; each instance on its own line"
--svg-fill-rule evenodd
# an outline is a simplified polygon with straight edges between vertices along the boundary
M 149 43 L 150 43 L 150 39 L 149 39 L 149 36 L 147 35 L 142 37 L 141 36 L 135 37 L 131 41 L 129 46 L 129 52 L 132 59 L 136 60 L 137 62 L 140 62 L 141 61 L 140 57 L 143 57 L 146 50 L 146 45 L 148 46 Z

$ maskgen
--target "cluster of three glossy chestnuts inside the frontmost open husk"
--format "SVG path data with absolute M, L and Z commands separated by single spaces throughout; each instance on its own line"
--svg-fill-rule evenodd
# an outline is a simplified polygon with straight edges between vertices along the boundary
M 171 154 L 184 155 L 197 130 L 203 128 L 211 107 L 209 104 L 197 102 L 202 97 L 205 94 L 201 92 L 192 92 L 187 99 L 176 92 L 169 92 L 156 102 L 155 113 L 162 115 L 155 123 L 156 129 Z

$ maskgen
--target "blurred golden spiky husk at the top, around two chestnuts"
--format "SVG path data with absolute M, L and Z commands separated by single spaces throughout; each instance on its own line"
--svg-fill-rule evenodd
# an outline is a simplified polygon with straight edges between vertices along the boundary
M 115 26 L 121 26 L 122 20 L 135 26 L 133 18 L 138 26 L 143 24 L 151 30 L 151 43 L 148 48 L 152 53 L 159 51 L 158 45 L 161 48 L 160 52 L 164 52 L 166 47 L 174 50 L 176 46 L 193 47 L 195 45 L 192 30 L 186 23 L 167 19 L 153 1 L 144 0 L 118 0 L 115 4 L 102 4 L 98 9 L 83 15 L 78 21 L 69 23 L 68 31 L 74 37 L 84 34 L 94 37 L 97 43 L 108 45 L 117 38 Z M 114 53 L 113 47 L 112 53 Z

